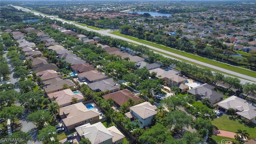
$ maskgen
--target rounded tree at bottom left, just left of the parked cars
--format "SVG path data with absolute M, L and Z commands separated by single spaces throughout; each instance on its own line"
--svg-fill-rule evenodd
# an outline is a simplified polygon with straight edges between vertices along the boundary
M 37 138 L 44 143 L 49 143 L 51 141 L 50 138 L 57 137 L 57 130 L 54 126 L 47 125 L 42 130 L 39 131 Z

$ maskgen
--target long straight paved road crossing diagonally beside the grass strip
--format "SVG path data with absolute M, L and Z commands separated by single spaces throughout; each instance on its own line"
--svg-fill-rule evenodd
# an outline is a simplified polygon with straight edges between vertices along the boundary
M 24 9 L 24 8 L 22 8 L 22 7 L 19 7 L 19 6 L 14 6 L 14 7 L 15 7 L 15 8 L 18 8 L 18 9 L 21 9 L 21 10 L 26 10 L 26 9 Z M 26 11 L 27 11 L 27 12 L 32 12 L 32 11 L 30 11 L 30 10 L 26 10 Z M 38 13 L 38 12 L 33 12 L 33 13 L 34 13 L 35 15 L 42 15 L 42 14 L 40 14 L 40 13 Z M 42 16 L 46 16 L 46 15 L 42 15 Z M 62 19 L 59 19 L 59 18 L 55 18 L 55 17 L 53 17 L 53 16 L 47 16 L 47 17 L 50 17 L 51 19 L 60 20 L 60 21 L 62 21 L 63 23 L 64 23 L 64 22 L 67 22 L 67 23 L 69 23 L 69 24 L 74 24 L 73 22 L 68 22 L 68 21 L 65 21 L 65 20 L 62 20 Z M 136 42 L 136 41 L 130 40 L 130 39 L 128 39 L 128 38 L 123 38 L 123 37 L 120 37 L 120 36 L 116 36 L 116 35 L 114 35 L 114 34 L 108 33 L 108 30 L 94 30 L 94 29 L 91 29 L 91 28 L 87 28 L 86 26 L 80 26 L 80 25 L 78 25 L 78 24 L 74 24 L 74 25 L 75 25 L 75 26 L 78 26 L 78 27 L 80 27 L 80 28 L 84 28 L 84 29 L 86 29 L 86 30 L 98 32 L 99 34 L 102 34 L 102 35 L 111 36 L 112 38 L 118 38 L 118 39 L 122 39 L 122 40 L 125 40 L 125 41 L 128 41 L 128 42 L 133 42 L 133 43 L 135 43 L 135 44 L 144 45 L 144 46 L 147 46 L 148 48 L 151 48 L 151 49 L 153 49 L 153 50 L 158 50 L 158 51 L 160 51 L 160 52 L 164 52 L 164 53 L 170 54 L 170 55 L 172 55 L 172 56 L 177 56 L 177 57 L 179 57 L 179 58 L 182 58 L 182 59 L 184 59 L 184 60 L 188 60 L 188 61 L 190 61 L 190 62 L 195 62 L 195 63 L 201 64 L 201 65 L 203 65 L 203 66 L 207 66 L 207 67 L 210 67 L 210 68 L 214 68 L 214 69 L 219 70 L 219 71 L 221 71 L 221 72 L 226 72 L 226 73 L 228 73 L 228 74 L 232 74 L 232 75 L 234 75 L 234 76 L 238 76 L 238 77 L 247 79 L 247 80 L 240 79 L 242 84 L 244 84 L 245 82 L 250 82 L 250 83 L 256 82 L 256 78 L 253 78 L 253 77 L 251 77 L 251 76 L 247 76 L 247 75 L 244 75 L 244 74 L 240 74 L 240 73 L 237 73 L 237 72 L 233 72 L 233 71 L 230 71 L 230 70 L 226 70 L 226 69 L 224 69 L 224 68 L 219 68 L 218 66 L 213 66 L 213 65 L 211 65 L 211 64 L 207 64 L 207 63 L 204 63 L 204 62 L 200 62 L 200 61 L 194 60 L 194 59 L 192 59 L 192 58 L 187 58 L 187 57 L 185 57 L 185 56 L 181 56 L 181 55 L 178 55 L 178 54 L 174 54 L 174 53 L 172 53 L 172 52 L 168 52 L 168 51 L 166 51 L 166 50 L 162 50 L 162 49 L 159 49 L 159 48 L 156 48 L 156 47 L 153 47 L 153 46 L 149 46 L 149 45 L 146 45 L 146 44 L 142 44 L 142 43 L 140 43 L 140 42 Z M 166 56 L 166 57 L 169 57 L 169 56 Z M 250 80 L 250 81 L 249 81 L 249 80 Z

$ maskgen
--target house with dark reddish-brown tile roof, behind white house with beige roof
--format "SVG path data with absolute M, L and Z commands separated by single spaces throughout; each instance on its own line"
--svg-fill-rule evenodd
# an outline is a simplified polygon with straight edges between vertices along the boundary
M 130 90 L 124 89 L 117 92 L 113 92 L 111 94 L 106 94 L 102 96 L 104 99 L 112 98 L 116 104 L 116 106 L 122 106 L 124 102 L 127 102 L 129 98 L 132 98 L 136 102 L 142 100 L 142 98 L 135 96 L 130 92 Z

